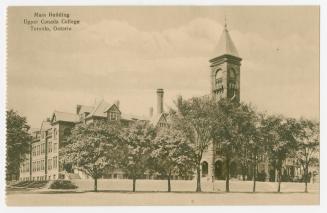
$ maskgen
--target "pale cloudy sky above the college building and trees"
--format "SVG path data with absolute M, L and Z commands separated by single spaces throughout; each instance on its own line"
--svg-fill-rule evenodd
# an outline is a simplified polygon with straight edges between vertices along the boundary
M 70 13 L 70 32 L 31 32 L 34 12 Z M 54 110 L 120 100 L 148 115 L 156 89 L 210 93 L 209 60 L 224 17 L 242 60 L 241 100 L 259 111 L 319 119 L 319 7 L 11 7 L 7 108 L 32 127 Z

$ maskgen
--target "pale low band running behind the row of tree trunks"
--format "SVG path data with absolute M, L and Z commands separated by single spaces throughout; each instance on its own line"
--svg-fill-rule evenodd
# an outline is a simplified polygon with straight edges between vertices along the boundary
M 93 190 L 94 182 L 92 179 L 87 180 L 72 180 L 78 186 L 80 191 Z M 231 192 L 252 192 L 252 181 L 230 181 Z M 276 182 L 257 182 L 257 192 L 276 192 L 278 183 Z M 99 179 L 98 190 L 109 191 L 132 191 L 133 181 L 130 179 Z M 171 190 L 180 192 L 194 192 L 196 188 L 195 180 L 171 180 Z M 225 181 L 216 180 L 214 182 L 202 180 L 201 188 L 204 192 L 224 192 Z M 136 191 L 167 191 L 167 180 L 144 180 L 136 181 Z M 319 191 L 319 184 L 308 184 L 308 189 L 311 192 Z M 285 182 L 281 184 L 281 192 L 303 192 L 304 183 Z

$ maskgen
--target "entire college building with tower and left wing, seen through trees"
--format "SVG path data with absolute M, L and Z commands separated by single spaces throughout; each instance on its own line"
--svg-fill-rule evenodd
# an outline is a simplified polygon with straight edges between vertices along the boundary
M 216 57 L 210 62 L 211 95 L 217 98 L 230 98 L 240 100 L 240 67 L 242 58 L 231 39 L 227 26 L 224 26 L 217 49 Z M 124 114 L 120 110 L 120 103 L 107 103 L 100 101 L 92 106 L 77 105 L 75 113 L 55 111 L 51 117 L 42 122 L 40 129 L 32 132 L 33 142 L 31 152 L 21 164 L 20 180 L 54 180 L 88 178 L 80 172 L 69 173 L 59 163 L 60 145 L 70 135 L 71 129 L 78 123 L 90 123 L 94 120 L 121 120 L 133 122 L 135 120 L 148 120 L 156 127 L 166 125 L 167 120 L 163 110 L 163 89 L 157 89 L 157 112 L 153 108 L 147 117 Z M 207 180 L 224 179 L 223 157 L 219 143 L 211 143 L 202 159 L 202 177 Z M 244 171 L 235 158 L 231 161 L 232 178 L 251 178 L 251 170 Z M 262 180 L 275 180 L 275 169 L 266 156 L 262 156 L 258 166 Z M 289 176 L 299 175 L 292 159 L 285 163 L 284 174 Z M 264 175 L 263 175 L 264 174 Z M 104 178 L 124 178 L 124 173 L 119 170 L 108 173 Z M 177 177 L 178 178 L 178 177 Z

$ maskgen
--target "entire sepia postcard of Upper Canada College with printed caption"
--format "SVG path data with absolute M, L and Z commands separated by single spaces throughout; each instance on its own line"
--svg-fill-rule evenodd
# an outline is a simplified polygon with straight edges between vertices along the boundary
M 319 205 L 319 6 L 9 6 L 8 206 Z

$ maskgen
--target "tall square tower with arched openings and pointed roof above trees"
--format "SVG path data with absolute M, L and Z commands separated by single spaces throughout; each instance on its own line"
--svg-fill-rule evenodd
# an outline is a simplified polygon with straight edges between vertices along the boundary
M 240 66 L 242 58 L 229 35 L 227 24 L 220 37 L 216 57 L 209 60 L 211 94 L 220 98 L 240 101 Z

